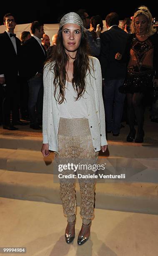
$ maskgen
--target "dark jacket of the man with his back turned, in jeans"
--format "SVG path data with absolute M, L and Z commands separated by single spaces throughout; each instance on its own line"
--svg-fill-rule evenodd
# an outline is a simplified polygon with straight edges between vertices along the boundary
M 105 80 L 121 79 L 125 77 L 126 65 L 115 59 L 117 52 L 123 54 L 128 40 L 128 33 L 118 26 L 101 33 L 100 64 L 102 76 Z

